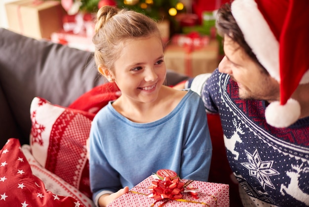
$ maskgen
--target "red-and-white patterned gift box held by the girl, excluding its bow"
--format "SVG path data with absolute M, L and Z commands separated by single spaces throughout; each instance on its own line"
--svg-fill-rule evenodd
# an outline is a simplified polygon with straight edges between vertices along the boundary
M 194 198 L 189 193 L 183 193 L 181 200 L 163 199 L 157 201 L 149 198 L 148 195 L 152 191 L 148 188 L 152 185 L 153 176 L 147 177 L 145 180 L 133 187 L 128 193 L 120 196 L 108 207 L 229 207 L 229 185 L 202 181 L 193 181 L 188 187 L 198 188 L 197 197 Z M 181 179 L 186 183 L 187 179 Z

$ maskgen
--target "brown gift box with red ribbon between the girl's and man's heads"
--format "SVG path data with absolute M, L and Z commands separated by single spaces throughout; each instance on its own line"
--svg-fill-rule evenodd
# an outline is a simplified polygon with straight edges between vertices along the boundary
M 210 39 L 207 45 L 192 48 L 169 44 L 165 49 L 164 61 L 167 69 L 191 77 L 212 72 L 219 64 L 219 42 L 216 39 Z

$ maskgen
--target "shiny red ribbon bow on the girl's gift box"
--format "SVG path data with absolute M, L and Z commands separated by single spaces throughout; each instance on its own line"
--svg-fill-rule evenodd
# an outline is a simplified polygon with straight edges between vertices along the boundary
M 181 199 L 183 197 L 184 183 L 179 182 L 179 177 L 171 179 L 164 177 L 164 180 L 154 179 L 152 185 L 148 187 L 152 193 L 148 195 L 149 198 L 154 198 L 156 201 L 162 199 Z

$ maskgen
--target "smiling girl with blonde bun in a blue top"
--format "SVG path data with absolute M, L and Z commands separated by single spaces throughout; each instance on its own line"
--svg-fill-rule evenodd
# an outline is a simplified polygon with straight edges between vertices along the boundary
M 160 169 L 207 181 L 212 146 L 205 108 L 193 91 L 163 85 L 164 51 L 154 20 L 105 6 L 98 11 L 95 32 L 98 70 L 121 91 L 91 127 L 95 204 L 108 205 Z

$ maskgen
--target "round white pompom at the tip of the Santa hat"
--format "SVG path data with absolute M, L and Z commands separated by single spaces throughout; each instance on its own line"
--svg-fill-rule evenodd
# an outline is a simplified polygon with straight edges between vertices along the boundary
M 286 104 L 280 105 L 278 101 L 270 103 L 265 110 L 266 122 L 277 128 L 284 128 L 295 123 L 301 115 L 301 106 L 289 99 Z

